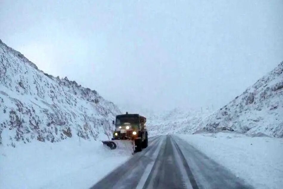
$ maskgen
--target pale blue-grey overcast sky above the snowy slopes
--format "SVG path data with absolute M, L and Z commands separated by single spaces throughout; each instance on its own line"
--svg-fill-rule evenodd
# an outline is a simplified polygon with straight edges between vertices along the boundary
M 219 108 L 283 61 L 283 1 L 0 0 L 0 38 L 116 104 Z

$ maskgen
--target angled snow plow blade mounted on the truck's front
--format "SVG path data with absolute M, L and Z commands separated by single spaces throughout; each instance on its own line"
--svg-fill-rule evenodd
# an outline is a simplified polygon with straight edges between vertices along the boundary
M 104 140 L 101 142 L 103 143 L 103 145 L 108 146 L 111 150 L 123 149 L 130 151 L 132 154 L 135 151 L 134 140 Z

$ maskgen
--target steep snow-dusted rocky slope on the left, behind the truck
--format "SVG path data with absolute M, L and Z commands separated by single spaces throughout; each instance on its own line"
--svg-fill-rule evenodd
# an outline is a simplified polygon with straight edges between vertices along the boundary
M 108 138 L 119 113 L 95 90 L 42 72 L 0 40 L 0 144 Z

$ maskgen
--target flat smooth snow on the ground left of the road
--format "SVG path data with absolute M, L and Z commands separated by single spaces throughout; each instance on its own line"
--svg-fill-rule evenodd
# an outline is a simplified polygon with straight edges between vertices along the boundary
M 0 148 L 0 188 L 89 188 L 131 157 L 77 137 Z

